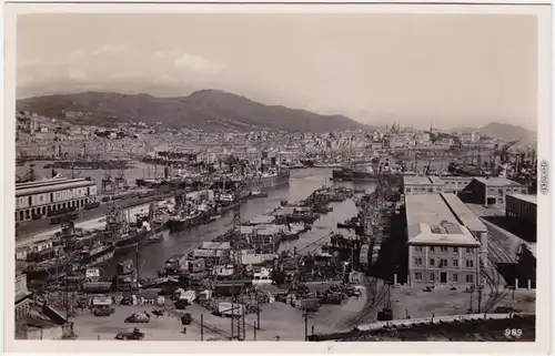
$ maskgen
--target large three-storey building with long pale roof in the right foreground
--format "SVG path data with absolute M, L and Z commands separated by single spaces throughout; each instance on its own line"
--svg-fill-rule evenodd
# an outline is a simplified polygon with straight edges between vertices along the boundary
M 456 196 L 455 196 L 456 197 Z M 405 195 L 408 283 L 480 285 L 480 242 L 441 194 Z

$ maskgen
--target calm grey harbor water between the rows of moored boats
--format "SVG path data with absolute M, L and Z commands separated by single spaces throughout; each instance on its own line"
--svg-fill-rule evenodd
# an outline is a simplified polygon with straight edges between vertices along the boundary
M 265 191 L 268 197 L 245 201 L 241 204 L 241 220 L 248 221 L 255 215 L 263 214 L 276 207 L 281 201 L 299 201 L 307 197 L 313 191 L 324 185 L 333 184 L 330 181 L 332 171 L 330 169 L 307 169 L 293 171 L 289 186 L 275 187 Z M 343 186 L 352 186 L 350 182 L 336 183 Z M 373 190 L 374 183 L 356 184 L 357 190 Z M 303 248 L 310 246 L 306 251 L 312 251 L 316 243 L 320 243 L 324 236 L 327 236 L 332 230 L 337 231 L 336 225 L 354 215 L 357 210 L 353 201 L 347 200 L 342 203 L 332 203 L 333 211 L 321 216 L 313 225 L 312 231 L 301 234 L 296 241 L 283 244 L 280 248 L 293 250 L 294 246 Z M 165 241 L 159 244 L 141 246 L 139 250 L 139 274 L 140 278 L 157 277 L 158 271 L 163 268 L 164 261 L 173 254 L 188 254 L 198 248 L 202 242 L 208 242 L 224 233 L 231 227 L 233 212 L 229 212 L 220 220 L 206 225 L 188 228 L 176 234 L 170 235 Z M 349 234 L 347 231 L 342 233 Z M 125 260 L 134 260 L 133 252 L 117 255 L 107 265 L 102 266 L 104 275 L 113 275 L 119 263 Z

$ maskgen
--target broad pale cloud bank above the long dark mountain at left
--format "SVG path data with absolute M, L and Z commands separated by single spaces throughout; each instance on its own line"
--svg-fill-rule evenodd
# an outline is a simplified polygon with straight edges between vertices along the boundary
M 175 84 L 205 80 L 224 70 L 224 65 L 201 55 L 170 49 L 144 53 L 140 48 L 115 44 L 74 49 L 56 58 L 22 59 L 18 62 L 18 85 L 120 83 Z

